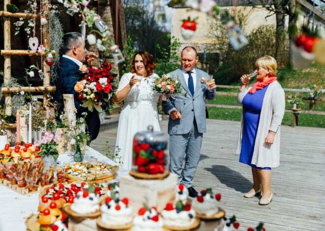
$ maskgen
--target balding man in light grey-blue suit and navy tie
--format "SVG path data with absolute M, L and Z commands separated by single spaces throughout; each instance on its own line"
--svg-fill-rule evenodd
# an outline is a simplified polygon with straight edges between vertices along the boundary
M 206 132 L 205 124 L 205 100 L 213 100 L 216 96 L 214 79 L 207 85 L 201 82 L 201 78 L 208 76 L 206 72 L 195 68 L 198 61 L 196 49 L 186 47 L 182 51 L 182 67 L 173 71 L 171 77 L 178 77 L 186 95 L 169 96 L 163 109 L 168 112 L 168 134 L 170 167 L 172 173 L 178 175 L 178 184 L 183 183 L 189 189 L 191 197 L 197 192 L 192 187 L 196 166 L 200 159 L 203 133 Z M 185 158 L 184 176 L 182 165 Z

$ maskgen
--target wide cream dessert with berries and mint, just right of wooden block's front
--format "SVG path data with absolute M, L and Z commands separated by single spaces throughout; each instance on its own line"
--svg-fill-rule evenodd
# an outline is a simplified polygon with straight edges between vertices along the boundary
M 191 205 L 183 205 L 182 201 L 178 201 L 176 205 L 168 203 L 162 210 L 164 225 L 171 230 L 174 230 L 175 227 L 186 228 L 186 230 L 196 228 L 200 222 L 195 217 L 196 214 Z

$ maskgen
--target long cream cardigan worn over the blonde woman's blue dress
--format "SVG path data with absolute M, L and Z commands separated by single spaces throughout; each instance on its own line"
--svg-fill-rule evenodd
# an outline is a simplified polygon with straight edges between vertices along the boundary
M 237 103 L 243 103 L 245 95 L 253 85 L 254 84 L 251 84 L 245 90 L 239 90 L 237 94 Z M 280 125 L 285 111 L 285 104 L 285 93 L 280 83 L 278 81 L 270 83 L 265 92 L 262 109 L 260 111 L 260 122 L 252 158 L 252 164 L 255 164 L 257 167 L 275 168 L 280 164 Z M 240 154 L 241 151 L 244 113 L 245 108 L 243 107 L 238 134 L 237 154 Z M 265 138 L 269 130 L 276 132 L 273 144 L 265 144 Z

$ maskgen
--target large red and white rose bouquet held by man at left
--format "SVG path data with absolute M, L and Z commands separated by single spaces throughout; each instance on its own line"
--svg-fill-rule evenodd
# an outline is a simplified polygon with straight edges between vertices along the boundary
M 117 75 L 111 73 L 111 70 L 112 66 L 107 62 L 103 63 L 102 68 L 87 68 L 85 65 L 80 67 L 84 77 L 76 83 L 74 90 L 83 103 L 81 106 L 88 107 L 89 111 L 93 111 L 94 108 L 98 112 L 102 112 L 102 108 L 110 110 L 117 81 L 115 78 Z

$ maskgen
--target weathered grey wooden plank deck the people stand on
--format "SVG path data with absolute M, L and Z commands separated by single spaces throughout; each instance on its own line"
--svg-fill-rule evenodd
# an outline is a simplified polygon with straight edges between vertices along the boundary
M 168 121 L 161 121 L 167 134 Z M 220 206 L 240 222 L 240 231 L 264 222 L 266 231 L 325 230 L 325 129 L 281 127 L 280 166 L 272 170 L 273 201 L 244 198 L 252 188 L 251 169 L 235 154 L 239 122 L 207 120 L 201 158 L 194 178 L 197 191 L 212 187 L 221 193 Z M 101 131 L 91 146 L 114 152 L 117 128 Z M 168 151 L 166 152 L 168 153 Z

